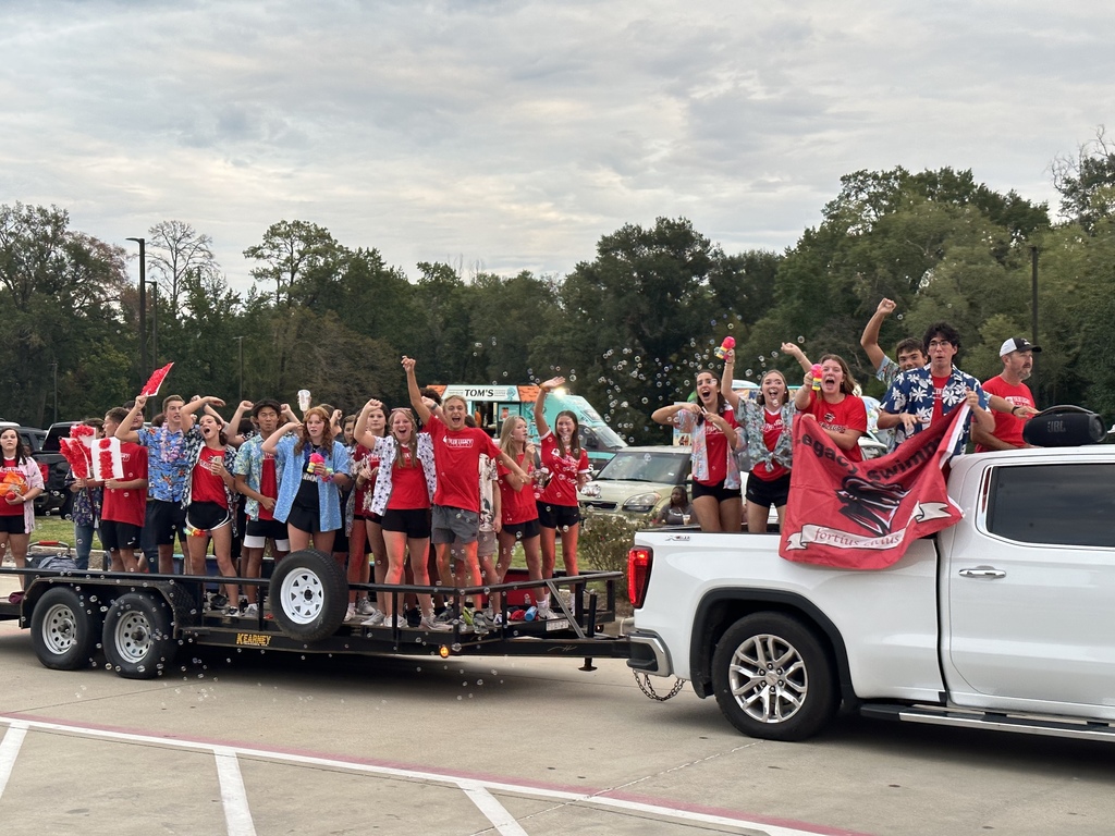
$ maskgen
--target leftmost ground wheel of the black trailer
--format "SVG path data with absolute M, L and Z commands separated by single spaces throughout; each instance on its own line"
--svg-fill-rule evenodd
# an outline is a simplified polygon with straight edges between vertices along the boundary
M 31 644 L 43 668 L 76 671 L 93 667 L 100 639 L 100 610 L 69 586 L 42 593 L 31 612 Z

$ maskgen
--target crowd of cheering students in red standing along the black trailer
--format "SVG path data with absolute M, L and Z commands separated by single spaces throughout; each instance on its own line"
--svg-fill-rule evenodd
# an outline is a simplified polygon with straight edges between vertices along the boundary
M 388 410 L 372 398 L 348 418 L 308 404 L 298 417 L 264 399 L 241 402 L 225 421 L 223 400 L 172 395 L 149 426 L 144 396 L 87 421 L 98 436 L 119 439 L 123 478 L 71 479 L 78 567 L 88 568 L 99 534 L 105 567 L 117 572 L 175 573 L 177 541 L 186 574 L 205 574 L 212 544 L 222 577 L 256 579 L 270 544 L 275 560 L 308 547 L 332 553 L 353 584 L 485 586 L 503 582 L 516 546 L 530 580 L 552 577 L 560 538 L 565 572 L 576 574 L 576 492 L 589 459 L 574 414 L 560 412 L 554 428 L 543 415 L 563 379 L 541 385 L 535 449 L 523 418 L 506 418 L 497 443 L 476 427 L 463 398 L 443 402 L 420 390 L 413 359 L 403 358 L 403 369 L 409 407 Z M 26 477 L 14 498 L 0 503 L 0 548 L 10 544 L 25 566 L 42 479 L 19 447 L 14 431 L 0 434 L 0 478 Z M 227 618 L 258 616 L 258 589 L 227 581 L 207 605 Z M 547 587 L 530 594 L 536 618 L 553 618 Z M 404 600 L 356 587 L 346 618 L 445 632 L 465 615 L 464 602 L 437 612 L 434 596 L 420 594 L 408 620 L 396 611 Z M 496 593 L 466 621 L 484 630 L 501 616 Z

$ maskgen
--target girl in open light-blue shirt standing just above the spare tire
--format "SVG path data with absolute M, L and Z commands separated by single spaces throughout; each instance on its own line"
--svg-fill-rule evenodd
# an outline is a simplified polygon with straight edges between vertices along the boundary
M 263 451 L 278 457 L 274 516 L 287 524 L 290 546 L 295 552 L 312 543 L 318 551 L 330 554 L 341 527 L 338 487 L 350 482 L 349 461 L 345 445 L 333 440 L 329 418 L 323 408 L 311 407 L 302 421 L 288 421 L 263 443 Z M 323 460 L 311 461 L 313 454 Z

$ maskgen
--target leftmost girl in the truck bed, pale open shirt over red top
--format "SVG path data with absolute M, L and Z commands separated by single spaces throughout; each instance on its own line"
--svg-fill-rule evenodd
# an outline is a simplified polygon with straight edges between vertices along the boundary
M 743 519 L 735 410 L 711 371 L 697 373 L 697 400 L 656 409 L 656 424 L 676 425 L 691 439 L 694 514 L 702 532 L 738 532 Z

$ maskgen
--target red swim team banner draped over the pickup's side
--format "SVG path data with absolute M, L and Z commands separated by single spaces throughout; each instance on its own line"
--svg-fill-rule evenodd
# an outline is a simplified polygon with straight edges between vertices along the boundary
M 942 468 L 968 420 L 961 405 L 893 453 L 850 461 L 811 415 L 794 419 L 794 467 L 778 554 L 837 568 L 884 568 L 910 543 L 957 523 Z

